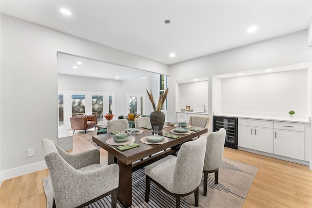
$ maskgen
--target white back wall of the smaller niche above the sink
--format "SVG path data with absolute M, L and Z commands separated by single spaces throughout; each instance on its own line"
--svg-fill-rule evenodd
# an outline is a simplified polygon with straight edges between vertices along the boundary
M 177 109 L 185 109 L 185 106 L 191 106 L 191 109 L 208 110 L 208 81 L 197 81 L 179 84 L 180 88 L 180 107 Z

